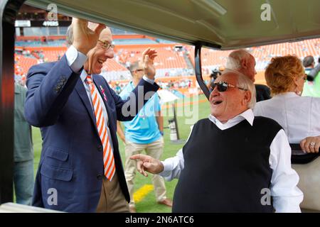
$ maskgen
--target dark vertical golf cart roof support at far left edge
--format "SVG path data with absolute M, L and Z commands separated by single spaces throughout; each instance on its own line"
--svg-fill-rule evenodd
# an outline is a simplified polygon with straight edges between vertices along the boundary
M 13 201 L 14 23 L 23 2 L 0 1 L 0 204 Z

